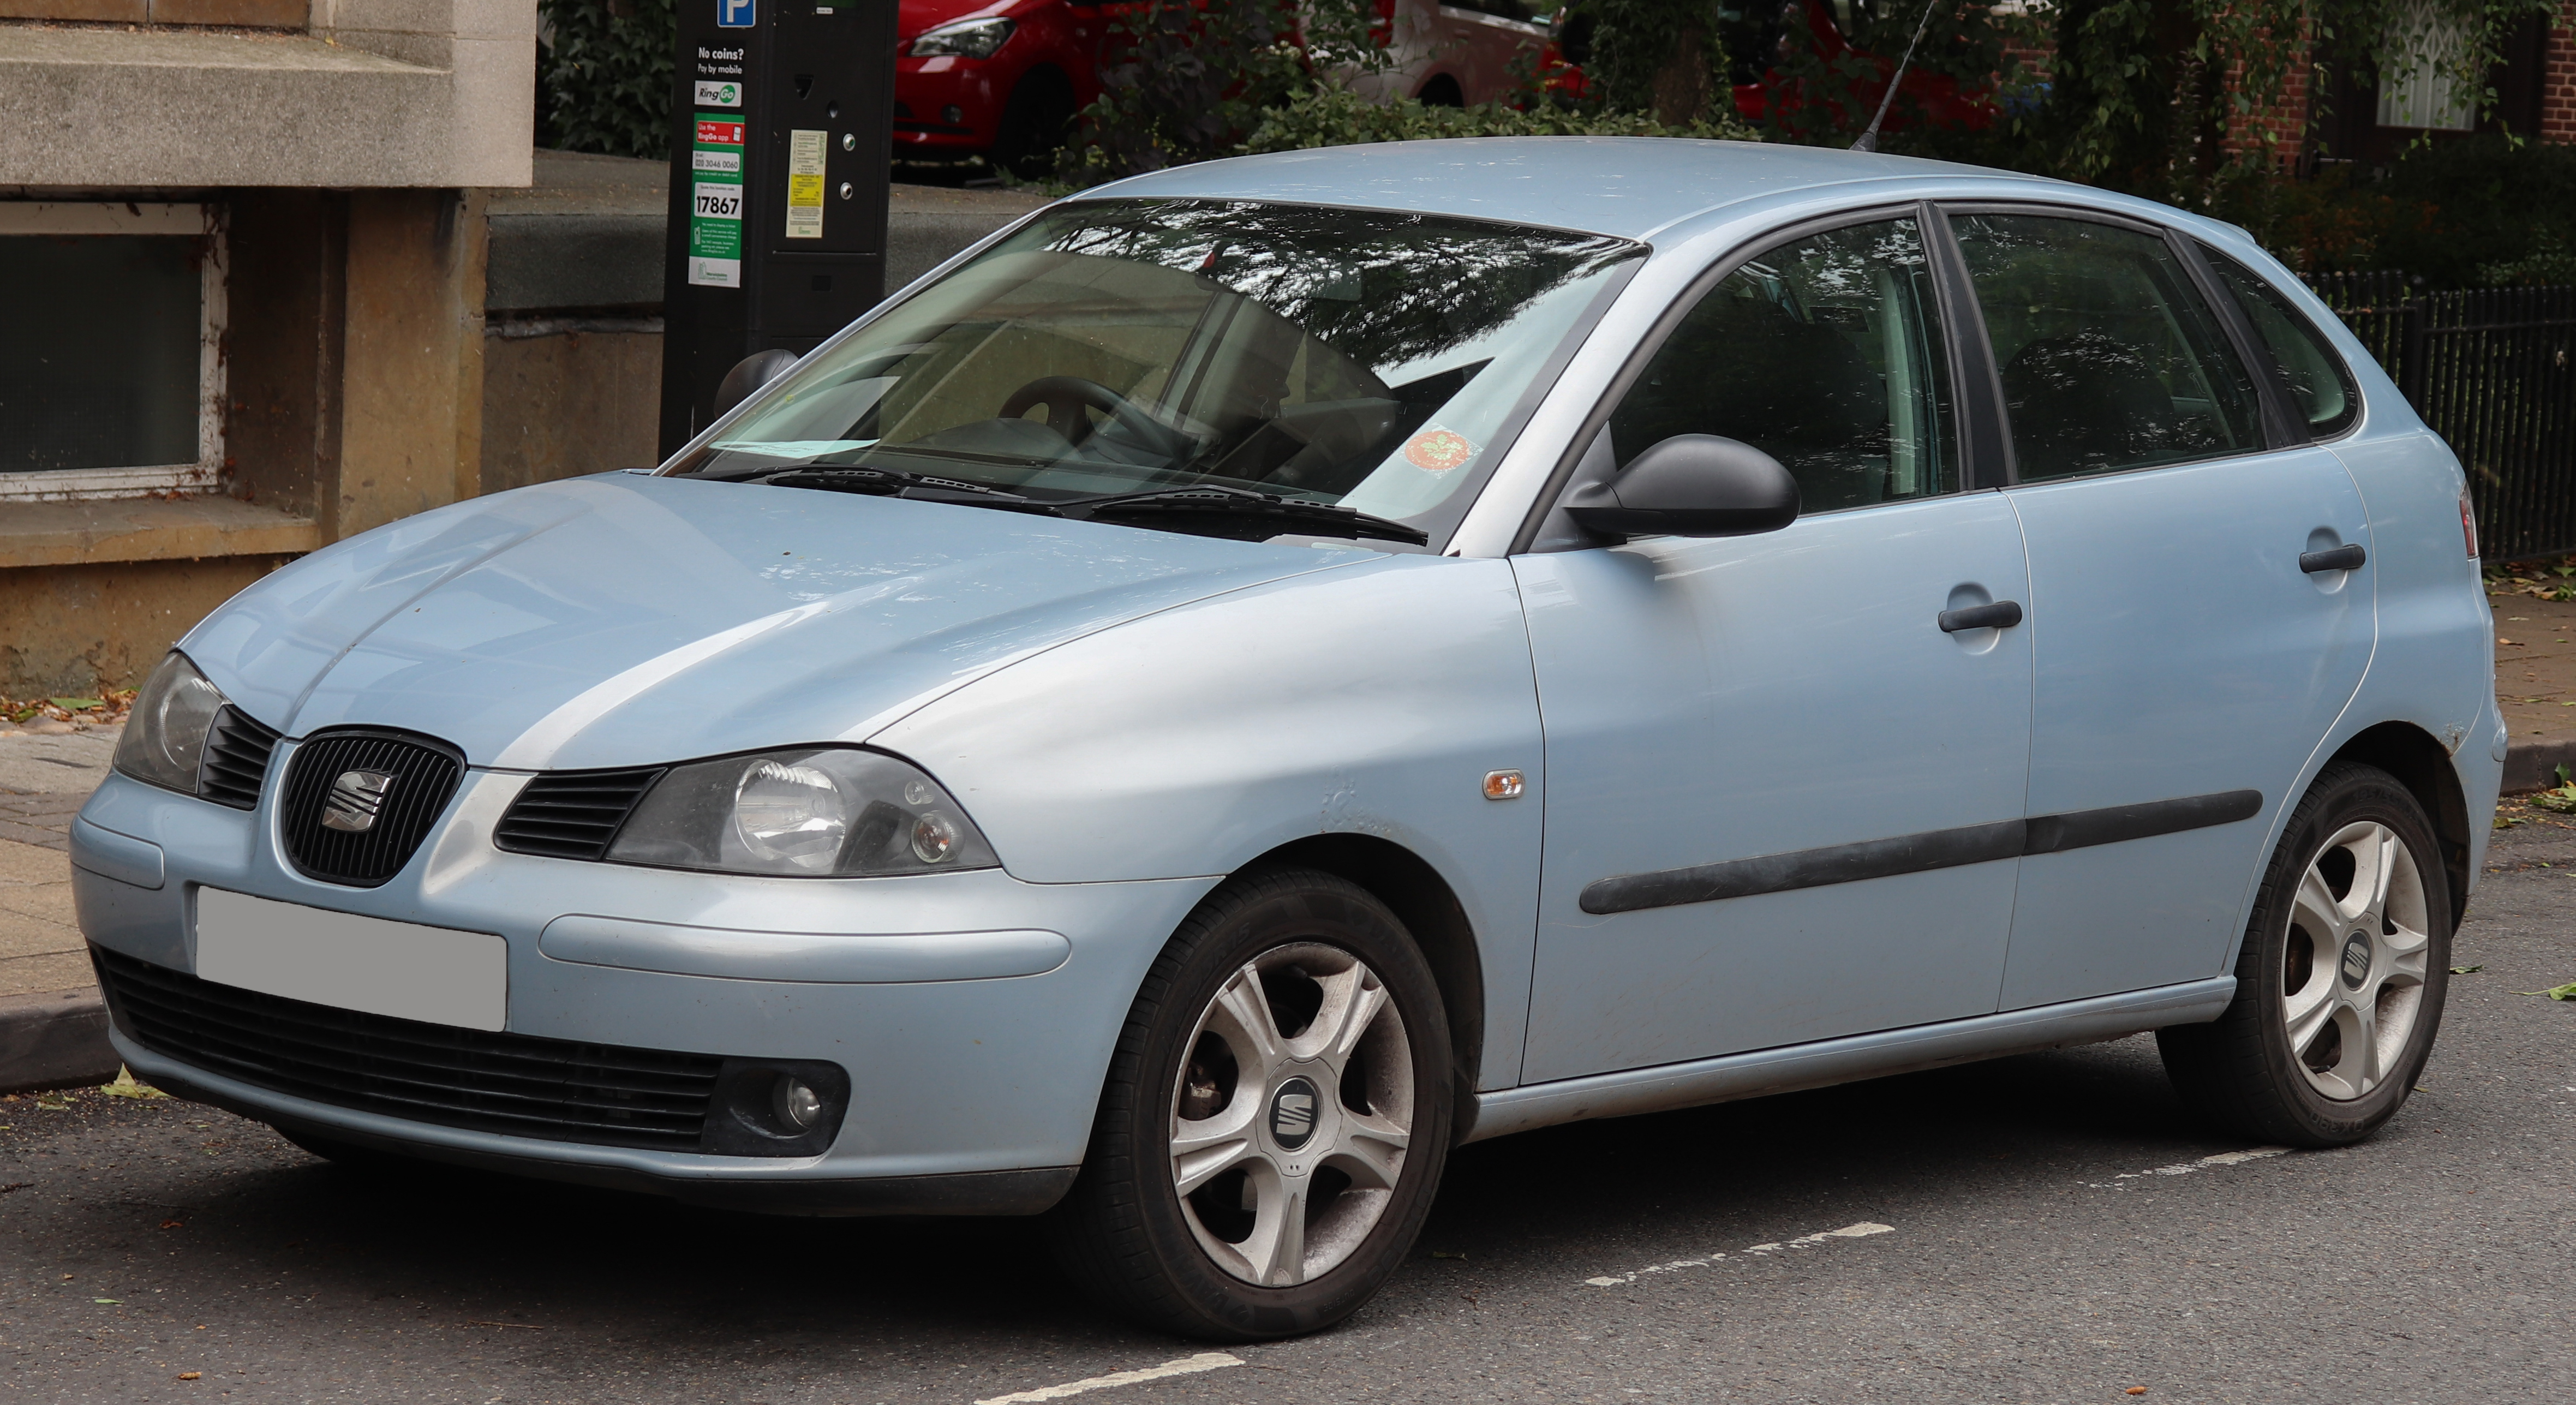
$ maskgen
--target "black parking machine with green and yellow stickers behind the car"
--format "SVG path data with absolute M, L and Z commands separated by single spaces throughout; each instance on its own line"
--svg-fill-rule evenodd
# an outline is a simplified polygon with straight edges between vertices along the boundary
M 755 351 L 806 353 L 886 294 L 896 0 L 680 0 L 662 454 Z

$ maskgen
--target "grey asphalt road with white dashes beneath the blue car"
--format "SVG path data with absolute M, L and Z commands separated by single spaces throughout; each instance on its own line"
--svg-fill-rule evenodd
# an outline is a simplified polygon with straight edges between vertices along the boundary
M 1084 1400 L 2576 1397 L 2576 1005 L 2517 995 L 2576 980 L 2576 828 L 2491 864 L 2486 969 L 2365 1147 L 2233 1158 L 2141 1039 L 1512 1137 L 1345 1328 Z M 1211 1351 L 1077 1302 L 1025 1225 L 376 1183 L 46 1101 L 0 1103 L 13 1402 L 963 1405 Z

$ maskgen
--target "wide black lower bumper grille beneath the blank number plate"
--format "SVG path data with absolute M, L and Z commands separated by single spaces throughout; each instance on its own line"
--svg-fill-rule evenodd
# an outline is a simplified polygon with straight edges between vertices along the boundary
M 98 946 L 90 954 L 116 1023 L 147 1049 L 276 1093 L 407 1121 L 696 1152 L 724 1067 L 711 1054 L 337 1011 Z

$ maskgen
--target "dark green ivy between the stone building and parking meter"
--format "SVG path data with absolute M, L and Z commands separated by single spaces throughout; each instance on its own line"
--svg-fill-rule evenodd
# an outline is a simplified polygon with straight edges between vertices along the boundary
M 536 0 L 536 144 L 670 155 L 672 0 Z

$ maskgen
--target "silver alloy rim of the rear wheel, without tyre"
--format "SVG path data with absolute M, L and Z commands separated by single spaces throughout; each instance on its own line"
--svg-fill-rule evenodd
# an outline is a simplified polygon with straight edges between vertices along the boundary
M 2388 825 L 2344 825 L 2290 902 L 2282 1023 L 2308 1085 L 2354 1101 L 2380 1085 L 2424 1005 L 2424 874 Z

